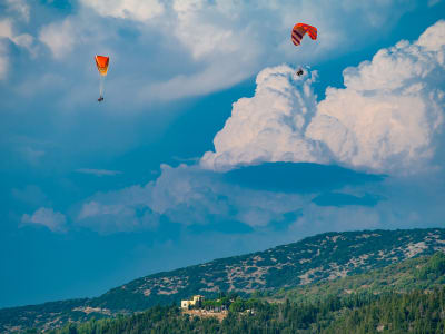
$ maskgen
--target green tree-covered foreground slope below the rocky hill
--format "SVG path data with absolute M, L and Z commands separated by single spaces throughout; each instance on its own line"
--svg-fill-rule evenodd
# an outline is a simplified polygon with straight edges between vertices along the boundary
M 444 333 L 444 274 L 445 255 L 436 253 L 364 275 L 290 289 L 279 303 L 226 297 L 222 303 L 228 313 L 222 321 L 190 317 L 177 306 L 158 306 L 135 316 L 69 324 L 50 333 Z M 369 282 L 373 278 L 375 284 Z M 385 279 L 387 284 L 382 284 Z M 363 287 L 364 282 L 372 284 Z M 344 287 L 352 289 L 335 295 Z M 215 304 L 211 302 L 207 305 Z

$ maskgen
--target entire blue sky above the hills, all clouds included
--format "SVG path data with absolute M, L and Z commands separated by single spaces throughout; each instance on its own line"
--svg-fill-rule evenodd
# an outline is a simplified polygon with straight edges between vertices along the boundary
M 328 230 L 443 226 L 444 12 L 1 1 L 0 307 Z M 298 21 L 317 41 L 291 45 Z

